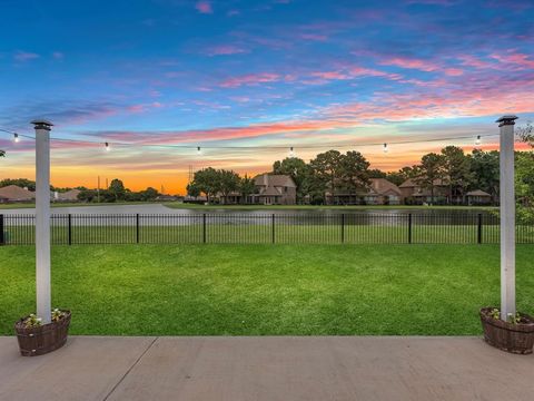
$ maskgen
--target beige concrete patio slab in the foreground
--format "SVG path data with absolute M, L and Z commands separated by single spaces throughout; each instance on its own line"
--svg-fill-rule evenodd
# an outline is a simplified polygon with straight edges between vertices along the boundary
M 22 358 L 0 338 L 0 400 L 532 400 L 534 356 L 478 338 L 72 336 Z

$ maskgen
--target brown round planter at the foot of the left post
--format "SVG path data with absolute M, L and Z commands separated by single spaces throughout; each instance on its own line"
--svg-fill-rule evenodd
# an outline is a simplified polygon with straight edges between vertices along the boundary
M 65 312 L 65 316 L 58 322 L 38 327 L 24 327 L 26 317 L 14 323 L 22 356 L 42 355 L 65 345 L 70 325 L 70 311 L 62 312 Z

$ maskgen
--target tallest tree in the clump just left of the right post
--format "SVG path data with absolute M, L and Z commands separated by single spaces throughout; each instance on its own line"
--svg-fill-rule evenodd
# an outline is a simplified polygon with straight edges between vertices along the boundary
M 453 197 L 463 197 L 473 180 L 471 158 L 465 156 L 464 149 L 457 146 L 446 146 L 442 149 L 443 176 L 448 185 L 447 203 Z

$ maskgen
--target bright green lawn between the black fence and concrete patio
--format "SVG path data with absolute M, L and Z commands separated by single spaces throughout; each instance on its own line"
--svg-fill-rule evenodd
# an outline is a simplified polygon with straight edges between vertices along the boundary
M 534 312 L 534 246 L 517 300 Z M 108 245 L 52 250 L 73 334 L 479 334 L 495 245 Z M 34 310 L 34 250 L 0 247 L 0 334 Z

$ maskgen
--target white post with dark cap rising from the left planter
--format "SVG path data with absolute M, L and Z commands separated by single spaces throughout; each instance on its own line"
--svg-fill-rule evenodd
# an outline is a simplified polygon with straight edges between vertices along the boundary
M 42 119 L 36 129 L 36 290 L 37 315 L 50 323 L 50 127 Z

